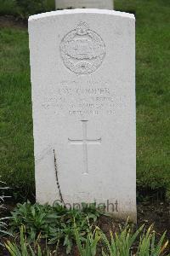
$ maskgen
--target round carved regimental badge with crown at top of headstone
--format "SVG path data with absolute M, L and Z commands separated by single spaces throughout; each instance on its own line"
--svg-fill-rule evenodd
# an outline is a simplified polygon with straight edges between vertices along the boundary
M 99 35 L 90 30 L 86 22 L 79 22 L 60 43 L 65 67 L 73 73 L 93 73 L 105 57 L 105 44 Z

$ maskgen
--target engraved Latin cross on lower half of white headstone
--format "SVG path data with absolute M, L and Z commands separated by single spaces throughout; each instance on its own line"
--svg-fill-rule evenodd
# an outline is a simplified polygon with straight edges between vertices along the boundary
M 84 163 L 84 172 L 83 174 L 88 174 L 88 145 L 101 144 L 101 137 L 99 139 L 88 139 L 87 135 L 87 125 L 88 120 L 82 121 L 82 139 L 72 140 L 68 138 L 69 143 L 72 145 L 82 145 L 83 146 L 83 163 Z

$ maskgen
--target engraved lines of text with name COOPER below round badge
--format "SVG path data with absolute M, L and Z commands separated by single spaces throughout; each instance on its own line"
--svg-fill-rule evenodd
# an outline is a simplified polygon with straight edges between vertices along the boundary
M 114 114 L 114 92 L 108 81 L 81 82 L 63 80 L 56 86 L 53 96 L 45 98 L 42 107 L 53 109 L 59 115 Z

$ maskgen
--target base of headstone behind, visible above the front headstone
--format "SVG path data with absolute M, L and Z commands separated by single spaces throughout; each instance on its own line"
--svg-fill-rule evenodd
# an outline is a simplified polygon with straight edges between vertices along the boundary
M 113 9 L 113 0 L 55 0 L 55 9 Z

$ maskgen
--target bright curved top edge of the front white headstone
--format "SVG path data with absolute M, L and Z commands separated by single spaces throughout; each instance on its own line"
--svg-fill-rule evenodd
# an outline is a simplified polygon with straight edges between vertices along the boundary
M 128 14 L 125 12 L 109 10 L 109 9 L 64 9 L 64 10 L 56 10 L 51 12 L 46 12 L 38 15 L 31 15 L 28 21 L 39 20 L 42 18 L 48 18 L 58 15 L 76 15 L 76 14 L 101 14 L 101 15 L 114 15 L 120 16 L 124 18 L 130 18 L 135 20 L 135 16 L 133 14 Z

